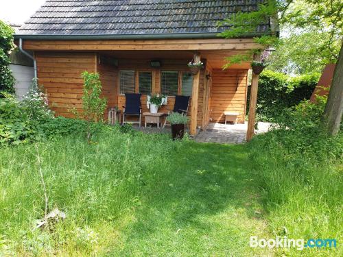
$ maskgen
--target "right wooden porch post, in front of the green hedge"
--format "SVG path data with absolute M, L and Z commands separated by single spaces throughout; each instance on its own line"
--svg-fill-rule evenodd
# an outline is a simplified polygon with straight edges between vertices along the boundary
M 259 61 L 260 56 L 254 54 L 254 60 Z M 251 88 L 250 88 L 250 104 L 248 116 L 248 130 L 246 132 L 246 140 L 249 141 L 255 134 L 256 121 L 256 106 L 257 106 L 257 90 L 259 87 L 259 75 L 252 73 Z

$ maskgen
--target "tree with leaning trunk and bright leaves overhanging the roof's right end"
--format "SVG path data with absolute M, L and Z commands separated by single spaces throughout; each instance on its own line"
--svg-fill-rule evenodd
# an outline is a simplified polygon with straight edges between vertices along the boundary
M 220 36 L 233 38 L 251 34 L 256 31 L 259 24 L 276 19 L 281 26 L 289 25 L 299 31 L 311 28 L 317 32 L 327 33 L 329 40 L 324 46 L 324 50 L 328 51 L 331 56 L 338 57 L 333 46 L 336 40 L 342 42 L 343 39 L 342 10 L 343 2 L 341 0 L 268 0 L 265 4 L 259 5 L 255 12 L 239 12 L 222 21 L 219 25 L 229 26 L 231 29 L 222 32 Z M 280 44 L 280 40 L 276 38 L 276 33 L 272 30 L 270 36 L 257 37 L 255 42 L 265 45 L 265 47 L 277 47 Z M 251 53 L 241 56 L 239 59 L 247 60 L 249 57 L 251 58 Z M 342 45 L 340 45 L 340 58 L 342 58 Z M 228 58 L 229 62 L 233 62 L 233 60 L 237 61 L 237 57 Z M 333 93 L 330 94 L 331 97 L 327 101 L 322 121 L 322 127 L 330 135 L 337 134 L 342 120 L 343 72 L 340 68 L 341 65 L 341 63 L 338 64 L 335 69 L 334 81 L 331 85 Z M 334 108 L 340 109 L 335 111 Z

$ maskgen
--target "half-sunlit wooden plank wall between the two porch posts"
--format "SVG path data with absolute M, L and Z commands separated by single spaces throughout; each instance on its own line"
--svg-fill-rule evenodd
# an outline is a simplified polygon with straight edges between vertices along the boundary
M 213 69 L 211 90 L 212 122 L 225 121 L 224 112 L 239 112 L 238 121 L 244 123 L 246 115 L 246 89 L 248 70 Z

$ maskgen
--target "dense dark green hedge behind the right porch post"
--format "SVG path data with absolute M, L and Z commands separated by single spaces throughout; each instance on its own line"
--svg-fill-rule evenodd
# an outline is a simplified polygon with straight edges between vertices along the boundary
M 259 77 L 257 119 L 275 122 L 276 117 L 287 108 L 309 99 L 319 77 L 318 73 L 289 77 L 283 73 L 263 71 Z M 249 95 L 248 91 L 248 99 L 250 99 Z

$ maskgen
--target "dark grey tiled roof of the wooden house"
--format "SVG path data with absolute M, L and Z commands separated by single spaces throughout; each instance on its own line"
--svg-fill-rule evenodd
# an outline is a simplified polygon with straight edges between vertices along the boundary
M 216 33 L 217 21 L 257 10 L 264 0 L 47 0 L 21 35 Z M 257 27 L 268 32 L 269 21 Z

